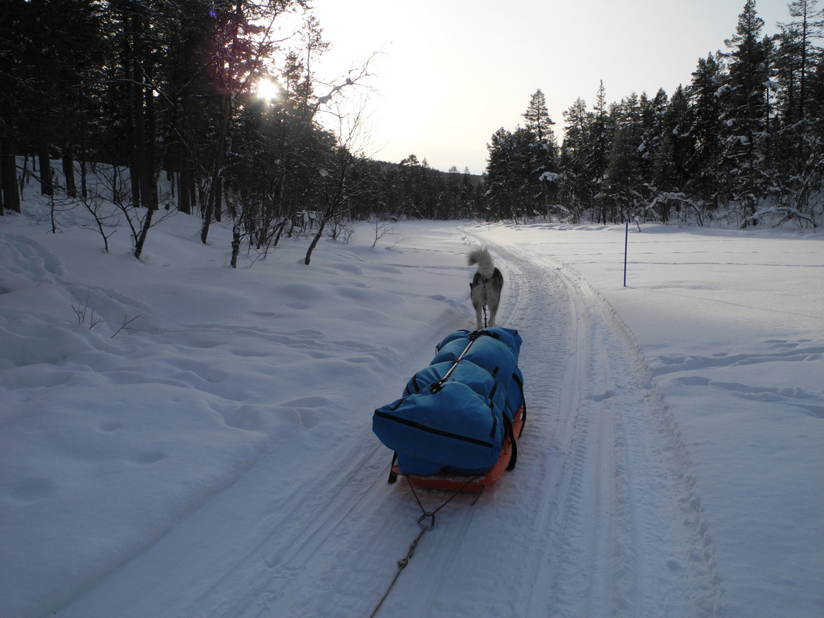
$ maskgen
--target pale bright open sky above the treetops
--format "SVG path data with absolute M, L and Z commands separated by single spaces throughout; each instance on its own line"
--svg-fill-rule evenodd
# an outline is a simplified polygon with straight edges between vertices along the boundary
M 492 134 L 523 124 L 541 89 L 555 133 L 580 96 L 592 109 L 632 92 L 672 96 L 699 58 L 735 34 L 745 0 L 313 0 L 333 73 L 382 52 L 370 96 L 368 156 L 410 154 L 435 169 L 485 170 Z M 785 0 L 757 0 L 762 35 L 791 21 Z

